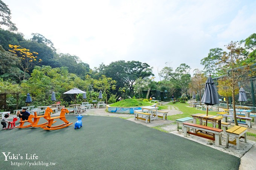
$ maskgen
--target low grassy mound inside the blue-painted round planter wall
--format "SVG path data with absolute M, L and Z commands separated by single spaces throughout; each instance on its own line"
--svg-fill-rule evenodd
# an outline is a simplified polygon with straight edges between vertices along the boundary
M 145 102 L 142 99 L 125 99 L 119 102 L 113 103 L 111 107 L 140 107 L 140 106 L 151 106 L 153 103 Z

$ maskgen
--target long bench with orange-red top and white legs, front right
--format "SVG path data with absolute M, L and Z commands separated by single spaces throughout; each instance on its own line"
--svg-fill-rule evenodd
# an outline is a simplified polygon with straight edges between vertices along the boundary
M 210 140 L 214 140 L 215 146 L 219 146 L 221 144 L 221 132 L 223 131 L 222 129 L 212 128 L 212 127 L 203 126 L 203 125 L 197 125 L 197 124 L 193 124 L 193 123 L 189 123 L 189 122 L 183 123 L 182 126 L 184 129 L 184 137 L 187 137 L 187 133 L 188 133 L 188 134 L 196 135 L 199 137 L 207 138 Z M 189 128 L 197 129 L 197 130 L 204 131 L 204 132 L 209 132 L 209 133 L 212 133 L 213 136 L 203 134 L 200 132 L 195 132 L 195 133 L 190 132 Z

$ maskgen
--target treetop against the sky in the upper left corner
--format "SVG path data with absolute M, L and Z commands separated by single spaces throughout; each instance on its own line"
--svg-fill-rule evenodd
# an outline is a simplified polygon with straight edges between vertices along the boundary
M 0 0 L 0 26 L 6 26 L 10 31 L 17 31 L 17 27 L 11 21 L 11 10 L 2 0 Z

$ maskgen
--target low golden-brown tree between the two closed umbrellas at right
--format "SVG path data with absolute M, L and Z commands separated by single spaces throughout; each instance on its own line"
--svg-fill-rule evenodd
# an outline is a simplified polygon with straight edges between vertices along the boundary
M 229 97 L 232 96 L 232 84 L 230 81 L 227 79 L 227 77 L 222 77 L 221 79 L 218 80 L 218 93 L 221 96 L 226 97 L 227 101 L 227 109 L 229 109 Z M 239 93 L 238 89 L 235 90 L 235 95 Z

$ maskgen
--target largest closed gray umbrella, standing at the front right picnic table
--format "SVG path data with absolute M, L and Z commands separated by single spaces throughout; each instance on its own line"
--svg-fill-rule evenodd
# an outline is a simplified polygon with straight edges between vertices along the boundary
M 219 96 L 218 96 L 214 81 L 212 80 L 212 77 L 208 77 L 205 82 L 204 95 L 201 99 L 201 102 L 207 105 L 207 108 L 206 108 L 207 116 L 208 116 L 208 105 L 219 104 Z M 206 122 L 206 125 L 207 125 L 207 122 Z

